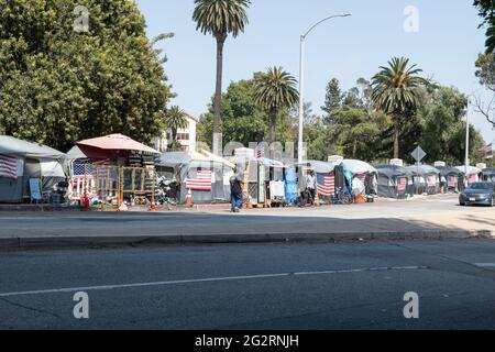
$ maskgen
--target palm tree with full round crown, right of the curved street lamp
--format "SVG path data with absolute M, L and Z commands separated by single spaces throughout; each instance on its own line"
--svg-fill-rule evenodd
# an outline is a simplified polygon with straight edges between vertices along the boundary
M 372 100 L 376 109 L 394 119 L 394 158 L 399 157 L 400 118 L 418 106 L 419 87 L 427 80 L 417 76 L 422 69 L 416 65 L 408 67 L 409 59 L 394 57 L 389 67 L 381 66 L 381 72 L 372 79 Z

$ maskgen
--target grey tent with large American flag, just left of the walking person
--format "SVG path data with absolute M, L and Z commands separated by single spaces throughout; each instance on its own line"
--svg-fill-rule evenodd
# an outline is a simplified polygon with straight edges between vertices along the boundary
M 228 201 L 233 164 L 219 156 L 201 153 L 164 153 L 155 160 L 158 174 L 179 182 L 179 199 L 191 190 L 194 202 Z M 200 180 L 200 182 L 198 182 Z

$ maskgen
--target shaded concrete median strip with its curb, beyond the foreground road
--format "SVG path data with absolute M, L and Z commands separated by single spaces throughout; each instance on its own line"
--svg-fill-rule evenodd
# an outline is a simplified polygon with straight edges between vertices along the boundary
M 12 213 L 0 250 L 209 243 L 332 243 L 404 239 L 495 239 L 493 209 L 396 218 L 251 213 Z

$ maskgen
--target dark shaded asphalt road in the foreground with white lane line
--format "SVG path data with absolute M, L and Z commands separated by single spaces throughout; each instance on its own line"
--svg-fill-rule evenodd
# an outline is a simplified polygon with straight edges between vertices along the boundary
M 0 254 L 0 329 L 58 328 L 495 329 L 495 241 Z

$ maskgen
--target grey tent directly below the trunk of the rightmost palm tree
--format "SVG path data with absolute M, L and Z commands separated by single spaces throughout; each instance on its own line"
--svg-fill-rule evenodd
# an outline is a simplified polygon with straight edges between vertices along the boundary
M 405 167 L 378 165 L 378 196 L 385 198 L 406 198 L 411 195 L 413 175 Z

